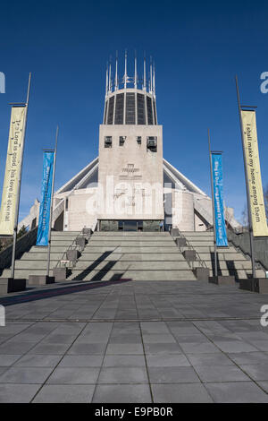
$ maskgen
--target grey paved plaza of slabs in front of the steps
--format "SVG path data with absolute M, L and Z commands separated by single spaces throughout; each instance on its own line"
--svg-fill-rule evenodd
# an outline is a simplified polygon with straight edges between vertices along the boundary
M 268 295 L 114 280 L 0 304 L 1 402 L 268 402 Z

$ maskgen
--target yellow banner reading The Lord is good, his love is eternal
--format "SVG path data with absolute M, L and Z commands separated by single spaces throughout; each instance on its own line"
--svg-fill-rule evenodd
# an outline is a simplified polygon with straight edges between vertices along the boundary
M 0 235 L 2 236 L 13 235 L 16 202 L 19 193 L 21 142 L 25 111 L 25 107 L 12 107 L 0 211 Z

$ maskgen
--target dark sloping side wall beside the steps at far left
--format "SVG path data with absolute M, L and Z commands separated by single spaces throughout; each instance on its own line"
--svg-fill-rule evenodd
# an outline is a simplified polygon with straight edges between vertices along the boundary
M 16 259 L 20 259 L 21 255 L 28 252 L 32 245 L 37 242 L 38 227 L 32 229 L 28 233 L 21 236 L 17 241 L 16 246 Z M 5 268 L 9 268 L 12 262 L 13 245 L 6 247 L 3 252 L 0 253 L 0 274 Z

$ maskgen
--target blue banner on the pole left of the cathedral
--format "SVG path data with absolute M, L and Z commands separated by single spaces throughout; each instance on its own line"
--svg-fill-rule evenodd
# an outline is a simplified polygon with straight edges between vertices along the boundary
M 43 160 L 42 201 L 40 203 L 37 245 L 48 245 L 52 198 L 54 151 L 45 151 Z

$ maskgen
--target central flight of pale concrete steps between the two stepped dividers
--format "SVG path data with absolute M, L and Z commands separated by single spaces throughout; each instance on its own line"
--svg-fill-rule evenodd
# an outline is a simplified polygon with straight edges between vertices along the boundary
M 193 271 L 166 232 L 96 232 L 71 279 L 194 280 Z

